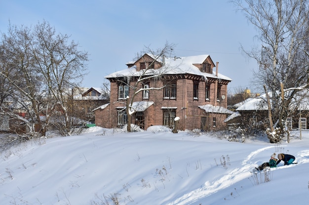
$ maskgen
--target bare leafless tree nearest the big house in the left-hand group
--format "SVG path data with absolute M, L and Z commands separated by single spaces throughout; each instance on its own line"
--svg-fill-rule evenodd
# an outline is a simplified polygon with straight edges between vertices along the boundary
M 68 42 L 69 36 L 56 34 L 55 29 L 43 22 L 35 28 L 38 40 L 34 58 L 36 68 L 42 80 L 47 85 L 49 101 L 46 117 L 57 116 L 56 123 L 61 134 L 70 134 L 70 127 L 74 123 L 74 116 L 70 115 L 68 97 L 72 95 L 72 88 L 77 87 L 85 75 L 85 62 L 88 60 L 86 52 L 78 51 L 78 44 Z

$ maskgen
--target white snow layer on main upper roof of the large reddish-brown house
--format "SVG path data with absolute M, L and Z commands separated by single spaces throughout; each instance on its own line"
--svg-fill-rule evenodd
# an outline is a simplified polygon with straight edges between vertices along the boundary
M 189 56 L 189 57 L 178 57 L 178 58 L 165 58 L 164 65 L 159 69 L 149 69 L 147 73 L 144 74 L 145 70 L 136 71 L 136 66 L 132 66 L 131 68 L 116 71 L 111 73 L 105 78 L 116 78 L 116 77 L 128 77 L 128 76 L 140 76 L 143 75 L 167 75 L 167 74 L 193 74 L 198 76 L 204 76 L 205 79 L 209 78 L 218 78 L 223 80 L 232 81 L 231 78 L 218 73 L 204 73 L 201 72 L 196 66 L 193 64 L 201 64 L 203 63 L 209 55 L 199 55 L 199 56 Z

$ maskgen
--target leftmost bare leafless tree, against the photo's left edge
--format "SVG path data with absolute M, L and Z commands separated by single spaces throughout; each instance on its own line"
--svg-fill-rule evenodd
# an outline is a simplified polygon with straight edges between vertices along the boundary
M 2 34 L 1 59 L 5 66 L 1 69 L 1 77 L 6 78 L 9 87 L 13 89 L 8 93 L 9 98 L 6 98 L 6 102 L 10 101 L 9 106 L 2 104 L 1 114 L 24 121 L 30 131 L 34 128 L 32 119 L 39 118 L 39 100 L 36 98 L 36 93 L 41 85 L 39 74 L 34 69 L 33 43 L 34 35 L 27 27 L 17 28 L 10 25 L 8 34 Z M 28 119 L 21 117 L 12 109 L 27 112 Z

